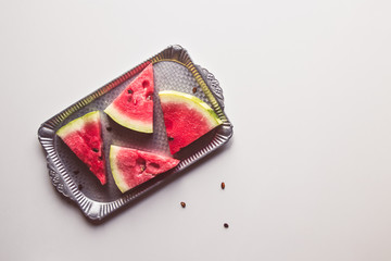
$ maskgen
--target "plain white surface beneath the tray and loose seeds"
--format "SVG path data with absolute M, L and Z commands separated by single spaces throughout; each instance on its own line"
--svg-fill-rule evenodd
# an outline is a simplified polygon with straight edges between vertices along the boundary
M 390 11 L 0 1 L 0 260 L 391 260 Z M 38 127 L 173 44 L 220 82 L 234 138 L 91 225 L 49 182 Z

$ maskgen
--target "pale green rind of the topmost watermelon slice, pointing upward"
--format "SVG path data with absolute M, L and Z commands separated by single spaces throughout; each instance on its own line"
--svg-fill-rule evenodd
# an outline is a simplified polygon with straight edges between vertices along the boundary
M 151 123 L 144 123 L 142 121 L 138 121 L 136 119 L 127 117 L 126 114 L 121 112 L 115 108 L 115 105 L 110 104 L 104 112 L 113 119 L 114 122 L 119 125 L 140 132 L 140 133 L 153 133 L 153 126 Z

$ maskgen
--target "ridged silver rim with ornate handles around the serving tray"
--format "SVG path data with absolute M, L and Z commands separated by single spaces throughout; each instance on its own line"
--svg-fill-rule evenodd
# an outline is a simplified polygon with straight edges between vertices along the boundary
M 214 75 L 211 74 L 207 70 L 201 67 L 200 65 L 195 65 L 190 59 L 187 50 L 179 45 L 168 46 L 160 53 L 146 60 L 134 69 L 127 71 L 126 73 L 113 79 L 109 84 L 97 89 L 92 94 L 71 104 L 68 108 L 64 109 L 63 111 L 55 114 L 40 125 L 38 129 L 38 140 L 45 149 L 49 176 L 53 186 L 60 194 L 73 200 L 79 207 L 85 216 L 92 221 L 103 220 L 104 217 L 121 209 L 125 204 L 129 203 L 134 199 L 153 189 L 154 187 L 157 187 L 161 183 L 163 183 L 163 181 L 156 182 L 136 194 L 124 194 L 119 199 L 116 199 L 114 201 L 100 202 L 92 200 L 85 196 L 78 189 L 72 177 L 67 174 L 64 165 L 62 164 L 61 159 L 58 156 L 54 147 L 55 129 L 59 124 L 61 124 L 62 121 L 72 115 L 72 113 L 84 108 L 85 105 L 92 102 L 94 99 L 101 97 L 111 89 L 131 78 L 133 76 L 141 72 L 149 63 L 159 63 L 162 61 L 173 61 L 186 66 L 194 76 L 197 83 L 200 85 L 206 98 L 210 100 L 212 108 L 215 110 L 218 117 L 223 121 L 223 124 L 218 128 L 218 132 L 216 132 L 216 135 L 211 141 L 211 144 L 206 145 L 199 151 L 195 151 L 189 158 L 181 160 L 180 163 L 174 170 L 172 170 L 171 175 L 179 173 L 184 169 L 199 161 L 201 158 L 213 152 L 215 149 L 226 144 L 232 136 L 234 126 L 224 112 L 223 90 L 219 86 L 218 80 L 215 79 Z

